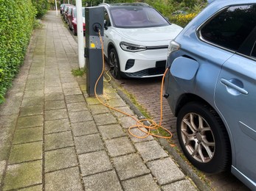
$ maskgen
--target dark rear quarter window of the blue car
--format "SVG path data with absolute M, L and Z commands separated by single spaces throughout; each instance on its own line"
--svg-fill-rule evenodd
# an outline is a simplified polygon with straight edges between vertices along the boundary
M 256 4 L 228 7 L 201 28 L 201 37 L 238 51 L 256 25 Z

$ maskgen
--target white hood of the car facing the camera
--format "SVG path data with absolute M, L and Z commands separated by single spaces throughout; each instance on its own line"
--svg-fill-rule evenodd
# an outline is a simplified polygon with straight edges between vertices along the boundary
M 115 30 L 120 36 L 128 40 L 139 42 L 158 42 L 173 40 L 179 34 L 179 32 L 181 32 L 182 27 L 176 24 L 171 24 L 170 26 L 136 29 L 115 28 Z

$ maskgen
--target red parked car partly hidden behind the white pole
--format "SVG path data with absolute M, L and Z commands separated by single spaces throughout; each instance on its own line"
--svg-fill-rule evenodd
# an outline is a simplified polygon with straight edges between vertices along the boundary
M 83 33 L 86 32 L 86 18 L 85 18 L 85 7 L 82 7 L 83 14 Z M 72 30 L 74 35 L 77 35 L 77 10 L 76 7 L 72 7 L 71 12 L 66 15 L 69 29 Z

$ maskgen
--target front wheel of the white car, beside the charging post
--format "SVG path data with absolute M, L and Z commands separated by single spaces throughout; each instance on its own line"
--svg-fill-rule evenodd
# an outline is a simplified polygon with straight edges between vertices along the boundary
M 112 76 L 115 79 L 121 79 L 120 62 L 115 48 L 111 48 L 108 52 L 108 63 Z

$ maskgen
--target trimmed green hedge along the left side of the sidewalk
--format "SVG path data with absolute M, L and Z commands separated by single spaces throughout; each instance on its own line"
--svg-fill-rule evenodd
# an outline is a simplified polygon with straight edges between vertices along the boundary
M 35 20 L 31 0 L 0 0 L 0 103 L 24 62 Z

